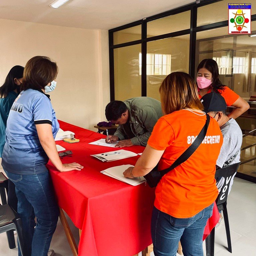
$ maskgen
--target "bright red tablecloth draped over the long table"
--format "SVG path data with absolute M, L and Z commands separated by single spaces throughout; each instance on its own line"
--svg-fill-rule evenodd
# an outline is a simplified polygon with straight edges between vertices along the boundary
M 73 144 L 57 142 L 73 152 L 72 157 L 62 159 L 63 163 L 78 162 L 84 168 L 60 173 L 51 162 L 47 168 L 58 205 L 82 230 L 79 256 L 132 256 L 142 251 L 152 243 L 150 223 L 154 189 L 145 184 L 131 186 L 100 173 L 112 166 L 134 165 L 139 156 L 101 162 L 90 155 L 112 151 L 112 148 L 88 143 L 103 138 L 103 135 L 62 121 L 59 123 L 64 131 L 72 131 L 80 139 L 79 143 Z M 144 147 L 132 146 L 127 149 L 142 153 Z M 214 216 L 208 224 L 208 233 L 216 225 L 216 212 Z

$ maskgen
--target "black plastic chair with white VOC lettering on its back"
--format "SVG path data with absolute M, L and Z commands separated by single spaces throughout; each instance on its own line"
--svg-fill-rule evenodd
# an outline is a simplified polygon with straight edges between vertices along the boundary
M 228 190 L 231 178 L 236 173 L 239 163 L 228 165 L 224 168 L 217 169 L 215 172 L 215 178 L 224 177 L 225 181 L 221 188 L 221 191 L 216 199 L 216 204 L 219 211 L 223 211 L 223 217 L 225 222 L 226 236 L 228 242 L 228 251 L 232 253 L 231 247 L 231 237 L 230 237 L 230 229 L 229 229 L 229 221 L 228 221 L 228 211 L 227 211 L 227 198 L 228 198 Z M 212 229 L 211 233 L 205 239 L 206 244 L 206 256 L 214 256 L 214 238 L 215 238 L 215 228 Z

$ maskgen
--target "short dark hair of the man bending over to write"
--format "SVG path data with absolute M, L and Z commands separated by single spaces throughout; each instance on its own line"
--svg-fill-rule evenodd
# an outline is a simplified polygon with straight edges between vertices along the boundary
M 127 107 L 123 101 L 114 100 L 108 103 L 105 109 L 105 115 L 108 121 L 119 119 L 123 113 L 127 111 Z

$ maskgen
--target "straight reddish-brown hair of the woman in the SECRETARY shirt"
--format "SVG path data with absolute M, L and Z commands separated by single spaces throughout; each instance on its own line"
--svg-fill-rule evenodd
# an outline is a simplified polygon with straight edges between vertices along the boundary
M 162 82 L 160 88 L 162 108 L 165 114 L 184 108 L 203 110 L 194 79 L 184 72 L 173 72 Z

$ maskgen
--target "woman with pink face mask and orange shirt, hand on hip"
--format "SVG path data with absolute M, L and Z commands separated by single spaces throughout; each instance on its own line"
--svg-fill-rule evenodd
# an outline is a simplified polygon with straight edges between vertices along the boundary
M 216 92 L 221 94 L 227 106 L 233 106 L 235 109 L 229 114 L 229 118 L 237 118 L 242 115 L 250 106 L 234 91 L 223 85 L 219 79 L 218 64 L 213 59 L 202 60 L 197 67 L 197 87 L 199 98 L 206 93 Z

